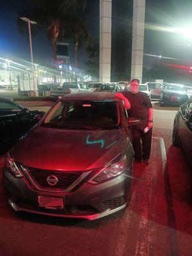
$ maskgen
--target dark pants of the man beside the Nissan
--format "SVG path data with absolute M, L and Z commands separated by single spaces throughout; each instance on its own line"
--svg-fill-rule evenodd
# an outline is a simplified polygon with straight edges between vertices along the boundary
M 137 161 L 148 159 L 150 157 L 152 141 L 152 128 L 144 133 L 140 129 L 132 129 L 132 146 L 134 149 L 134 158 Z

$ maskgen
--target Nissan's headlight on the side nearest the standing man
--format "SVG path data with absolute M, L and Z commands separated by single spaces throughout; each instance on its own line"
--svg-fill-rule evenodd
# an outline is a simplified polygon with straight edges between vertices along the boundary
M 124 156 L 120 160 L 116 161 L 115 163 L 111 163 L 105 168 L 103 168 L 97 175 L 95 175 L 91 180 L 88 182 L 91 184 L 98 184 L 102 182 L 106 182 L 111 180 L 118 175 L 122 174 L 126 170 L 127 166 L 127 157 Z

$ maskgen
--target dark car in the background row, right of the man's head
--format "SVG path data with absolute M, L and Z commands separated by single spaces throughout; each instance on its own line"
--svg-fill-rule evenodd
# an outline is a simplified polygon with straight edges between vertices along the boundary
M 180 106 L 188 101 L 188 95 L 184 86 L 175 84 L 166 85 L 161 92 L 160 106 Z

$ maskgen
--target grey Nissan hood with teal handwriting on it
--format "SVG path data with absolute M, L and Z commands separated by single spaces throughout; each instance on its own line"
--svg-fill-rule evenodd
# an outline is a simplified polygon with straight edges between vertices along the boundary
M 44 170 L 90 170 L 122 152 L 126 136 L 120 129 L 77 131 L 35 127 L 13 147 L 13 157 L 25 166 Z

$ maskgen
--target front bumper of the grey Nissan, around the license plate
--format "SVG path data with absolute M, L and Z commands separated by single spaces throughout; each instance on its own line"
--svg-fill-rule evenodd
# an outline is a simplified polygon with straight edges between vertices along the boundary
M 25 178 L 15 179 L 3 172 L 3 187 L 8 203 L 15 211 L 49 216 L 96 220 L 125 208 L 131 198 L 132 170 L 102 184 L 84 183 L 74 192 L 55 193 L 31 189 Z M 38 205 L 38 196 L 63 198 L 63 209 L 47 209 Z

